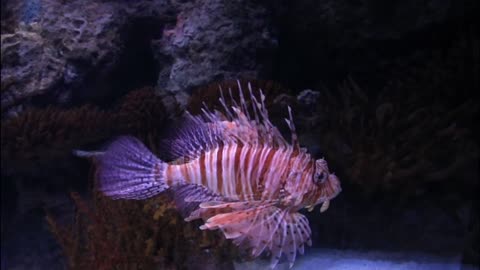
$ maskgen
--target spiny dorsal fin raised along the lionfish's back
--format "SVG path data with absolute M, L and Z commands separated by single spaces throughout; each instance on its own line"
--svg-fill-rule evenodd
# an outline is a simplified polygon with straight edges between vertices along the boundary
M 202 114 L 193 116 L 187 112 L 185 120 L 175 135 L 165 140 L 165 150 L 170 159 L 194 159 L 201 153 L 219 145 L 242 143 L 244 145 L 263 144 L 272 147 L 289 147 L 290 144 L 280 134 L 280 131 L 270 122 L 265 106 L 265 95 L 259 89 L 259 99 L 254 95 L 248 84 L 249 99 L 246 98 L 240 82 L 238 97 L 235 99 L 232 89 L 228 89 L 229 102 L 220 87 L 219 101 L 224 112 L 212 111 L 205 104 Z M 232 106 L 228 106 L 232 104 Z M 252 114 L 250 113 L 252 112 Z M 292 134 L 292 146 L 299 149 L 295 126 L 290 107 L 288 107 L 288 127 Z

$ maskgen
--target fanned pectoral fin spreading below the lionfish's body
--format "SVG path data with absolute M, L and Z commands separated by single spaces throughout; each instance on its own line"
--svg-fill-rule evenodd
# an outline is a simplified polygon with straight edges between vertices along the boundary
M 220 229 L 227 239 L 233 239 L 236 245 L 249 250 L 253 257 L 270 251 L 271 268 L 278 264 L 282 254 L 292 267 L 297 252 L 303 254 L 305 243 L 312 244 L 308 220 L 302 214 L 273 205 L 237 209 L 212 216 L 200 228 Z

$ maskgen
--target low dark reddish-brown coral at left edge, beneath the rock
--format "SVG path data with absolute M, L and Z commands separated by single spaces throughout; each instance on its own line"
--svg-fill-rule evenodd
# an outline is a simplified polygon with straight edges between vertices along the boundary
M 110 115 L 93 106 L 32 109 L 2 121 L 2 168 L 38 166 L 111 133 Z M 5 167 L 4 167 L 5 166 Z

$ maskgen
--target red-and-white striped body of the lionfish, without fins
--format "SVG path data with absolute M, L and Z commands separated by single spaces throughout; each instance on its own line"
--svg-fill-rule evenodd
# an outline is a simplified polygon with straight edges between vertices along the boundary
M 278 198 L 287 181 L 294 181 L 299 190 L 307 187 L 304 179 L 311 179 L 313 163 L 301 166 L 309 158 L 291 147 L 228 144 L 188 163 L 168 165 L 165 179 L 168 185 L 183 181 L 202 185 L 232 200 L 267 201 Z M 292 178 L 292 171 L 302 173 Z

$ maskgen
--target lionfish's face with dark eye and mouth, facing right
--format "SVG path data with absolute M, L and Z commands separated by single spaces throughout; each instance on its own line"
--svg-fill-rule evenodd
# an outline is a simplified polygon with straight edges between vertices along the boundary
M 322 204 L 320 212 L 324 212 L 328 209 L 330 200 L 342 191 L 340 180 L 334 173 L 330 173 L 327 161 L 321 158 L 315 161 L 315 172 L 313 173 L 312 181 L 314 184 L 314 196 L 307 208 L 311 211 L 317 204 Z

